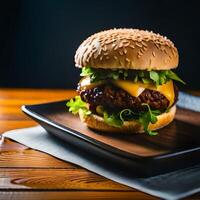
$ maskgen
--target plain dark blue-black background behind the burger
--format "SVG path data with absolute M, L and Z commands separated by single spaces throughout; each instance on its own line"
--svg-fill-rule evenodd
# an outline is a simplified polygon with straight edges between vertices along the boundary
M 113 27 L 168 36 L 178 74 L 200 89 L 198 1 L 13 0 L 0 3 L 0 87 L 75 88 L 74 53 L 89 35 Z

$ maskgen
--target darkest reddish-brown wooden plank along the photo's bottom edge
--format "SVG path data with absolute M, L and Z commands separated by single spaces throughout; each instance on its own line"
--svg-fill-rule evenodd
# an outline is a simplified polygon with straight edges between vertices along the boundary
M 49 192 L 0 192 L 0 200 L 156 200 L 157 198 L 141 192 L 101 192 L 101 191 L 49 191 Z M 197 199 L 196 199 L 197 200 Z

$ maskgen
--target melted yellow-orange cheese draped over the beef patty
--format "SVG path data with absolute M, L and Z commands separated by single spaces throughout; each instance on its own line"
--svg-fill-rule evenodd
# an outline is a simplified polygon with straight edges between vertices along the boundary
M 101 85 L 103 81 L 90 83 L 89 77 L 83 78 L 79 84 L 82 89 L 89 89 Z M 138 97 L 145 89 L 155 90 L 163 94 L 169 100 L 169 107 L 174 103 L 174 85 L 172 81 L 168 81 L 165 84 L 155 86 L 153 84 L 144 84 L 141 82 L 134 83 L 132 81 L 116 80 L 112 83 L 119 88 L 125 90 L 133 97 Z

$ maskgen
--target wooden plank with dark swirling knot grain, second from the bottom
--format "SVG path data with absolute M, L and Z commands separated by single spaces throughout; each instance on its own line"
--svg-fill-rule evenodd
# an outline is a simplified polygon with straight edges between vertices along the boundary
M 133 190 L 84 169 L 0 169 L 1 189 Z

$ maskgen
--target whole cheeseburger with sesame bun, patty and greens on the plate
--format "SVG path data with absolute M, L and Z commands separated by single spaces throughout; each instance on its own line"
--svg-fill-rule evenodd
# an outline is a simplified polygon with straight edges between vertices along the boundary
M 152 31 L 111 29 L 88 37 L 75 54 L 78 96 L 67 102 L 89 128 L 156 135 L 173 121 L 178 99 L 173 42 Z

